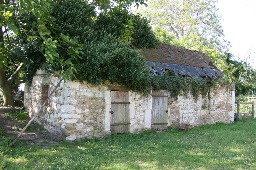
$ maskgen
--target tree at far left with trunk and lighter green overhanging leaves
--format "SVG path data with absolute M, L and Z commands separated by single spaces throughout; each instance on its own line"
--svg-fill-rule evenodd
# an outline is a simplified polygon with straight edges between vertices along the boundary
M 5 75 L 5 69 L 8 64 L 10 65 L 12 59 L 10 54 L 15 53 L 15 49 L 17 51 L 15 48 L 17 46 L 24 49 L 24 46 L 29 44 L 29 48 L 33 46 L 40 52 L 39 58 L 44 57 L 48 63 L 57 62 L 61 66 L 61 76 L 63 76 L 64 81 L 75 76 L 74 73 L 77 69 L 73 62 L 81 58 L 82 48 L 78 44 L 77 37 L 70 39 L 68 36 L 59 34 L 55 19 L 51 16 L 51 3 L 51 0 L 0 0 L 0 91 L 3 94 L 4 106 L 14 106 L 12 87 L 19 84 L 17 82 L 15 84 L 14 79 L 24 65 L 23 62 L 15 64 L 17 65 L 16 71 L 10 77 Z M 91 3 L 102 11 L 126 10 L 133 4 L 145 4 L 144 0 L 94 0 Z M 9 34 L 12 32 L 20 35 L 16 39 L 23 45 L 13 44 L 9 40 Z M 24 36 L 26 41 L 24 41 Z M 5 38 L 8 43 L 5 43 Z M 59 53 L 65 53 L 68 57 L 63 59 Z M 27 56 L 19 54 L 16 57 Z M 24 61 L 28 61 L 28 63 L 36 61 L 32 60 L 31 58 L 24 58 Z

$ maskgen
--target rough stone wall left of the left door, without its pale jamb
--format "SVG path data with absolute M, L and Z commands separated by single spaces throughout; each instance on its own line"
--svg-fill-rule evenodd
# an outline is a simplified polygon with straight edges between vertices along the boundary
M 51 90 L 58 81 L 58 77 L 37 72 L 32 86 L 25 90 L 24 96 L 24 105 L 30 116 L 41 106 L 41 86 L 49 84 Z M 101 85 L 62 82 L 50 98 L 50 105 L 44 108 L 36 121 L 56 137 L 67 136 L 67 140 L 104 136 L 110 133 L 110 129 L 105 128 L 105 112 L 108 109 L 104 99 L 106 91 L 107 87 Z

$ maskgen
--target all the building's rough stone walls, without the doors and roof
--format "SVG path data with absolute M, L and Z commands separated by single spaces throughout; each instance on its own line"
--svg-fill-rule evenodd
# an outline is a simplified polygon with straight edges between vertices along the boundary
M 33 114 L 45 100 L 45 87 L 49 91 L 57 85 L 59 77 L 38 70 L 31 87 L 25 88 L 24 105 Z M 47 86 L 46 86 L 47 85 Z M 56 93 L 50 98 L 48 106 L 39 114 L 36 121 L 56 138 L 66 140 L 76 138 L 104 137 L 110 134 L 111 99 L 109 83 L 91 85 L 86 82 L 62 82 Z M 152 97 L 129 91 L 129 131 L 137 133 L 151 128 Z M 170 94 L 169 94 L 170 96 Z M 210 96 L 208 98 L 208 96 Z M 234 88 L 229 85 L 217 85 L 206 97 L 199 95 L 195 101 L 192 94 L 178 100 L 168 101 L 168 126 L 182 128 L 234 121 Z

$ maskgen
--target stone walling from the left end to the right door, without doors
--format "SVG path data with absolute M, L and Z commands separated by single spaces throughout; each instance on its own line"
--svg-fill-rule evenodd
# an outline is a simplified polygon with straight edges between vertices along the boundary
M 24 105 L 32 117 L 42 104 L 42 87 L 49 85 L 50 91 L 57 85 L 59 77 L 37 70 L 32 85 L 25 88 Z M 86 82 L 62 82 L 50 98 L 36 121 L 56 138 L 74 140 L 84 137 L 103 137 L 110 132 L 111 91 L 103 85 Z M 151 98 L 129 91 L 130 132 L 139 132 L 151 126 Z M 145 116 L 146 115 L 146 116 Z

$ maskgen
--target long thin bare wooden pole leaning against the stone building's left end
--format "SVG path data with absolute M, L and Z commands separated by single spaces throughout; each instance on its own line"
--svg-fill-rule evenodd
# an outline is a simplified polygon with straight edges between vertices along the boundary
M 41 112 L 41 110 L 44 108 L 44 106 L 46 104 L 48 104 L 48 100 L 49 98 L 53 95 L 53 93 L 55 93 L 56 89 L 60 86 L 61 81 L 63 80 L 63 77 L 60 79 L 60 81 L 58 82 L 58 84 L 54 87 L 54 89 L 52 90 L 51 94 L 48 96 L 48 98 L 44 101 L 43 105 L 38 109 L 38 111 L 36 112 L 36 114 L 31 118 L 31 120 L 28 122 L 28 124 L 19 132 L 19 134 L 17 135 L 17 137 L 14 138 L 14 140 L 12 141 L 12 143 L 9 145 L 9 147 L 11 147 L 16 141 L 17 138 L 20 137 L 20 135 L 26 130 L 26 128 L 33 122 L 33 120 L 37 117 L 37 115 L 39 114 L 39 112 Z

